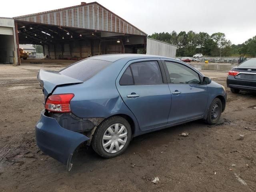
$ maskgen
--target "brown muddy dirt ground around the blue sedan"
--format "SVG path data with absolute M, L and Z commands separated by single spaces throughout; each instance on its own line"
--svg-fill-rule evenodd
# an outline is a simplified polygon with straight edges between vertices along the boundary
M 36 75 L 72 61 L 30 61 L 0 65 L 0 191 L 256 191 L 256 94 L 226 89 L 226 110 L 216 126 L 199 120 L 138 136 L 116 158 L 81 148 L 67 172 L 36 146 L 34 126 L 44 108 Z M 226 86 L 227 72 L 202 72 Z M 189 135 L 179 136 L 182 132 Z

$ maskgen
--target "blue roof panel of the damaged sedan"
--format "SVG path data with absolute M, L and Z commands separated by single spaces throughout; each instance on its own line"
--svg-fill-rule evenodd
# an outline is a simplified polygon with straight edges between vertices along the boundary
M 88 59 L 97 59 L 97 60 L 105 60 L 110 62 L 116 62 L 117 60 L 124 59 L 124 58 L 131 58 L 132 59 L 144 59 L 144 58 L 168 58 L 164 56 L 157 56 L 157 55 L 146 55 L 146 54 L 106 54 L 106 55 L 98 55 L 92 56 Z M 168 58 L 173 59 L 173 58 Z

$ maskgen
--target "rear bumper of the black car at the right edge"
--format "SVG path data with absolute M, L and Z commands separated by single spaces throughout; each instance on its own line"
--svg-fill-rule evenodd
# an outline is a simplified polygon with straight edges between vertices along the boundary
M 227 87 L 255 92 L 256 91 L 256 81 L 240 80 L 240 79 L 234 78 L 234 76 L 228 76 Z

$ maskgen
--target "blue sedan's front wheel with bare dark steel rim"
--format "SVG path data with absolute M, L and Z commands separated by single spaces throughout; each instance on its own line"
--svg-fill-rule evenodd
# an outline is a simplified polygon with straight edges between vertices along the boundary
M 215 98 L 210 104 L 206 122 L 210 125 L 216 124 L 222 113 L 222 102 L 219 98 Z

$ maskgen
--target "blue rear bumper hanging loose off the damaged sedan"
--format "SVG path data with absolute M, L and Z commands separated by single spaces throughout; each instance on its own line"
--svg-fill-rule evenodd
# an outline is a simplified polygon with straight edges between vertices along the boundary
M 74 150 L 83 142 L 89 140 L 83 134 L 62 128 L 56 119 L 44 115 L 36 124 L 36 143 L 45 154 L 72 168 L 71 158 Z

